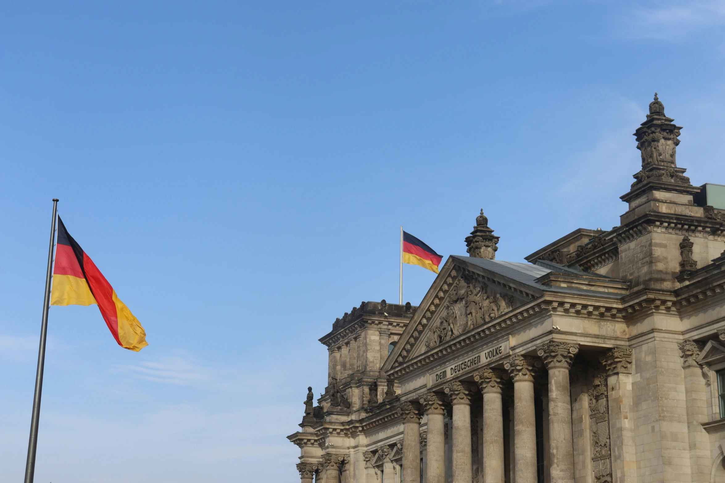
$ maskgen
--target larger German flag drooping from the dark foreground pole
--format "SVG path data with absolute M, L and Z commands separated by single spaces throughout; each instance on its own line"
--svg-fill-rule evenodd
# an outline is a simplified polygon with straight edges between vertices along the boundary
M 144 327 L 120 301 L 83 248 L 68 235 L 60 217 L 50 303 L 54 306 L 89 306 L 96 303 L 118 345 L 136 352 L 149 345 Z

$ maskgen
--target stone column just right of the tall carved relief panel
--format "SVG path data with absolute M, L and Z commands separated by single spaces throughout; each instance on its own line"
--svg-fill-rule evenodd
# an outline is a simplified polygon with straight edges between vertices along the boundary
M 599 356 L 607 370 L 612 483 L 637 483 L 632 410 L 632 350 L 616 347 Z

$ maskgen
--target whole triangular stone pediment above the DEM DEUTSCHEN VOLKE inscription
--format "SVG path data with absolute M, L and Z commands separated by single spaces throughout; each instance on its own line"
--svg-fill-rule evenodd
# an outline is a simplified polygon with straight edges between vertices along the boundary
M 384 364 L 384 371 L 543 295 L 533 284 L 494 271 L 511 272 L 503 265 L 506 262 L 486 262 L 491 262 L 488 268 L 480 259 L 449 257 Z

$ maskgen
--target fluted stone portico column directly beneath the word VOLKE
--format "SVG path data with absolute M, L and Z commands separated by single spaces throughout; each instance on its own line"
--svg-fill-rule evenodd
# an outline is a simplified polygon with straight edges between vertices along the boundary
M 503 456 L 503 379 L 508 373 L 500 369 L 482 369 L 473 373 L 484 400 L 484 469 L 481 483 L 504 483 Z

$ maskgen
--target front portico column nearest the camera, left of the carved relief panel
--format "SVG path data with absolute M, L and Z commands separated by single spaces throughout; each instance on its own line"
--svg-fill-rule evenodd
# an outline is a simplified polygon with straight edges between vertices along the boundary
M 574 483 L 569 369 L 579 345 L 550 340 L 537 353 L 549 371 L 549 458 L 552 483 Z

